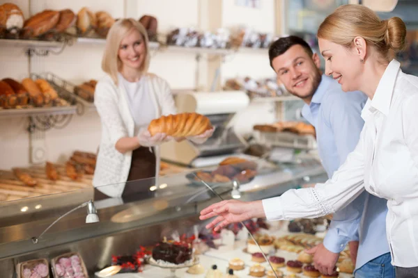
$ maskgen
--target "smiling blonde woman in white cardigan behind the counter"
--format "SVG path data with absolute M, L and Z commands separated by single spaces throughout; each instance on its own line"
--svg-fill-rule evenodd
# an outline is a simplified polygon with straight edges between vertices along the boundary
M 158 145 L 173 138 L 164 133 L 151 137 L 147 127 L 151 120 L 175 114 L 176 106 L 169 84 L 148 73 L 149 65 L 144 26 L 134 19 L 118 20 L 109 30 L 104 49 L 102 70 L 107 75 L 95 88 L 94 103 L 102 122 L 93 178 L 95 200 L 153 195 L 149 188 L 155 185 L 150 178 L 157 177 L 160 170 Z M 201 144 L 212 133 L 213 129 L 187 139 Z

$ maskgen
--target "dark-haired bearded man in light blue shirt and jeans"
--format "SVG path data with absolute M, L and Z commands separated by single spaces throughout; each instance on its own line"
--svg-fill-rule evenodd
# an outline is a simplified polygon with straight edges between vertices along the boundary
M 331 178 L 357 145 L 364 124 L 361 113 L 366 95 L 343 92 L 336 80 L 321 75 L 318 55 L 302 38 L 277 40 L 269 56 L 277 79 L 305 102 L 302 115 L 315 126 L 320 160 Z M 350 242 L 356 278 L 395 277 L 386 239 L 386 213 L 385 200 L 366 191 L 334 213 L 323 243 L 308 251 L 314 255 L 316 268 L 331 274 L 339 252 Z

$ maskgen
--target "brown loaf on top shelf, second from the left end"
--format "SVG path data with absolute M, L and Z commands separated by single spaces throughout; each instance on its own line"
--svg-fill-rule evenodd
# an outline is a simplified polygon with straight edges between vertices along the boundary
M 59 12 L 56 10 L 44 10 L 26 20 L 23 35 L 24 37 L 38 37 L 54 28 L 58 21 Z

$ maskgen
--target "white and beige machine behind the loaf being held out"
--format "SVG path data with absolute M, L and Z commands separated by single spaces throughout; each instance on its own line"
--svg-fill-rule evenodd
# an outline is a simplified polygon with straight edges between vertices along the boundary
M 209 118 L 215 132 L 202 145 L 189 140 L 171 140 L 161 145 L 164 161 L 187 167 L 217 165 L 224 158 L 241 154 L 247 142 L 235 133 L 231 120 L 238 111 L 249 105 L 249 97 L 242 91 L 183 92 L 175 97 L 178 113 L 199 113 Z

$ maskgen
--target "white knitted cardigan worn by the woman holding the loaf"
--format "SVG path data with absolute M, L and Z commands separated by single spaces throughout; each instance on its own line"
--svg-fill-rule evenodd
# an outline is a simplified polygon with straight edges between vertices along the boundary
M 155 118 L 176 113 L 167 81 L 155 74 L 145 74 L 148 90 L 155 106 Z M 102 122 L 102 138 L 93 177 L 93 186 L 110 197 L 121 197 L 130 171 L 132 151 L 121 154 L 115 148 L 123 137 L 134 137 L 134 120 L 127 105 L 127 93 L 119 81 L 104 76 L 95 88 L 94 104 Z M 138 111 L 141 113 L 141 111 Z M 160 149 L 155 147 L 156 177 L 160 172 Z M 156 181 L 157 182 L 157 181 Z

